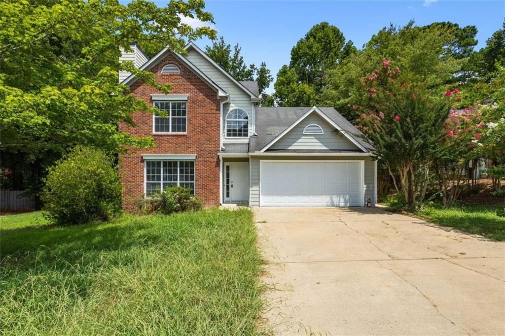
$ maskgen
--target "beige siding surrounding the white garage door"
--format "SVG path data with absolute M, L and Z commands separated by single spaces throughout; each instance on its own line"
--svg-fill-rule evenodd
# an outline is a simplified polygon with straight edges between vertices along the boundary
M 249 161 L 249 206 L 260 206 L 260 160 L 364 160 L 365 202 L 375 205 L 375 163 L 369 156 L 250 156 Z

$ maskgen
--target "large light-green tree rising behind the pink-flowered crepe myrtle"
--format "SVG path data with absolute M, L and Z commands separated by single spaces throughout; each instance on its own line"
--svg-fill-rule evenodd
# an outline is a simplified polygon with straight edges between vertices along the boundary
M 355 119 L 357 114 L 352 105 L 366 105 L 370 98 L 362 79 L 377 69 L 383 59 L 408 74 L 412 83 L 422 83 L 434 94 L 444 92 L 456 85 L 457 76 L 468 62 L 467 57 L 462 57 L 468 51 L 457 51 L 455 47 L 458 45 L 455 34 L 460 30 L 447 24 L 417 27 L 414 22 L 404 27 L 384 27 L 362 50 L 331 71 L 322 103 L 334 106 L 348 119 Z

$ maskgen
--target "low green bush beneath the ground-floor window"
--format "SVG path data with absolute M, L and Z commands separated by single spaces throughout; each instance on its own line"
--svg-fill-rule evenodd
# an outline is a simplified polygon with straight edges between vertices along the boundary
M 201 201 L 191 194 L 191 190 L 183 187 L 170 187 L 161 193 L 161 212 L 170 214 L 180 211 L 196 211 L 201 209 Z

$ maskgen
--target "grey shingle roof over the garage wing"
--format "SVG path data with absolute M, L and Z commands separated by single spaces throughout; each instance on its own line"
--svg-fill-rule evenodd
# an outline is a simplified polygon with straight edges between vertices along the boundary
M 256 134 L 249 140 L 249 152 L 261 150 L 275 139 L 286 128 L 303 116 L 312 107 L 257 107 Z M 340 115 L 333 107 L 318 107 L 331 121 L 340 126 L 344 132 L 354 138 L 360 145 L 373 149 L 356 127 Z

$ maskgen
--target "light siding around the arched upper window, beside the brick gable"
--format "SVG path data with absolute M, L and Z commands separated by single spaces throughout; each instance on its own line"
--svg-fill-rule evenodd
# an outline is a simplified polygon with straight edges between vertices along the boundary
M 233 83 L 233 81 L 223 74 L 221 70 L 216 68 L 194 49 L 189 48 L 187 59 L 230 95 L 230 103 L 224 104 L 223 106 L 223 139 L 226 140 L 224 137 L 226 135 L 226 114 L 234 108 L 241 108 L 249 115 L 249 135 L 251 135 L 252 121 L 254 120 L 254 117 L 252 116 L 253 110 L 250 95 L 241 89 L 237 84 Z

